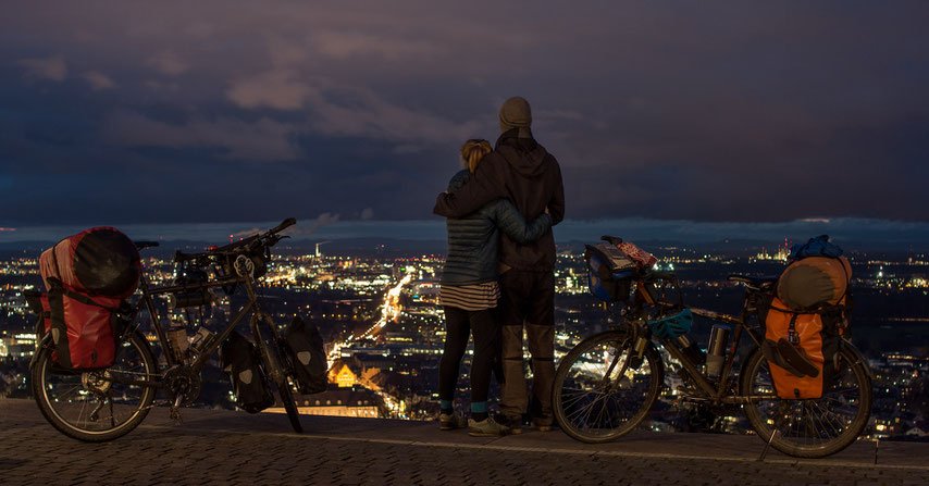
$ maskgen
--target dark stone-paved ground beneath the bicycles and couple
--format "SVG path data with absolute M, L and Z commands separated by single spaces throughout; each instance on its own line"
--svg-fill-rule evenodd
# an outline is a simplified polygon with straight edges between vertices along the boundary
M 157 408 L 127 436 L 84 444 L 30 400 L 0 400 L 0 484 L 308 485 L 927 485 L 929 444 L 860 441 L 821 460 L 770 451 L 757 437 L 633 433 L 586 445 L 560 432 L 503 438 L 437 423 Z

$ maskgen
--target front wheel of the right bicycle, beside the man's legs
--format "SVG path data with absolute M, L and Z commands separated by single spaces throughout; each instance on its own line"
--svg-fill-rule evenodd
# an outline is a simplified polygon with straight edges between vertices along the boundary
M 631 347 L 630 342 L 625 342 L 628 336 L 623 331 L 607 331 L 591 336 L 578 344 L 558 364 L 552 390 L 552 411 L 558 425 L 571 438 L 598 444 L 621 437 L 642 423 L 658 399 L 665 371 L 661 358 L 651 345 L 645 348 L 644 361 L 640 366 L 628 369 L 625 381 L 619 382 L 625 383 L 625 389 L 596 389 L 608 383 L 600 376 L 607 367 L 594 370 L 592 363 L 595 362 L 590 358 L 581 361 L 592 353 L 612 356 L 610 349 L 618 349 L 617 346 L 622 345 L 617 367 L 611 372 L 617 373 Z M 622 398 L 614 401 L 611 398 L 615 396 Z M 628 404 L 632 404 L 631 410 L 625 410 Z M 591 421 L 595 409 L 596 418 Z

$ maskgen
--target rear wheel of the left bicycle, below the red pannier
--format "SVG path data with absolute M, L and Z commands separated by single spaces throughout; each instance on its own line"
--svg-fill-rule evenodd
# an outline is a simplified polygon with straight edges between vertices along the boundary
M 54 349 L 51 346 L 42 346 L 38 349 L 32 369 L 32 390 L 39 411 L 59 432 L 77 440 L 102 443 L 128 434 L 148 415 L 154 400 L 154 387 L 123 385 L 116 382 L 109 382 L 109 386 L 110 389 L 124 388 L 119 408 L 121 409 L 121 418 L 124 416 L 125 419 L 116 423 L 116 404 L 113 403 L 115 400 L 112 397 L 108 400 L 112 407 L 101 408 L 104 413 L 110 412 L 110 427 L 103 424 L 104 420 L 95 419 L 92 413 L 85 415 L 85 412 L 88 412 L 89 402 L 95 399 L 98 403 L 101 402 L 99 397 L 90 392 L 85 385 L 85 379 L 89 376 L 108 372 L 132 373 L 136 378 L 138 375 L 144 375 L 146 379 L 152 379 L 158 371 L 158 365 L 151 347 L 140 333 L 137 331 L 131 333 L 128 339 L 119 345 L 113 365 L 102 371 L 82 373 L 62 370 L 54 363 L 53 351 Z M 59 388 L 62 389 L 61 395 L 58 392 Z M 131 398 L 128 391 L 133 391 L 133 396 L 138 394 L 138 399 Z M 66 397 L 74 400 L 65 400 Z M 75 401 L 80 404 L 76 404 Z M 102 401 L 101 404 L 106 402 Z

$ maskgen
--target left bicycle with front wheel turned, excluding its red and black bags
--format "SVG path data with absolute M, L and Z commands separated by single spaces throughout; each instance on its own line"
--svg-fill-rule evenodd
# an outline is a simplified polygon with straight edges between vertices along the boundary
M 293 387 L 296 384 L 293 364 L 285 344 L 277 333 L 271 316 L 261 309 L 255 290 L 256 272 L 263 273 L 270 261 L 270 248 L 286 236 L 280 235 L 296 224 L 293 217 L 262 234 L 223 247 L 211 247 L 201 253 L 177 251 L 174 262 L 184 269 L 215 269 L 215 278 L 161 288 L 149 288 L 145 273 L 139 281 L 140 298 L 132 306 L 126 304 L 117 321 L 124 325 L 116 337 L 116 358 L 104 370 L 66 370 L 55 363 L 54 345 L 46 335 L 29 363 L 33 396 L 46 420 L 62 434 L 84 441 L 106 441 L 122 437 L 137 427 L 154 407 L 157 390 L 164 391 L 171 403 L 171 416 L 179 420 L 179 408 L 190 406 L 200 395 L 200 373 L 220 345 L 232 335 L 235 327 L 249 314 L 251 335 L 258 345 L 264 375 L 277 389 L 290 425 L 302 432 Z M 136 248 L 158 247 L 157 241 L 136 241 Z M 179 349 L 187 344 L 186 331 L 183 341 L 172 342 L 161 325 L 156 310 L 154 296 L 182 296 L 191 292 L 208 292 L 210 288 L 223 287 L 232 294 L 241 285 L 248 303 L 230 321 L 219 334 L 206 333 L 199 346 L 189 350 Z M 179 298 L 179 297 L 177 297 Z M 159 367 L 154 352 L 139 332 L 138 316 L 148 311 L 157 342 L 162 350 L 164 365 Z M 270 332 L 265 333 L 260 324 Z M 262 377 L 262 379 L 264 379 Z

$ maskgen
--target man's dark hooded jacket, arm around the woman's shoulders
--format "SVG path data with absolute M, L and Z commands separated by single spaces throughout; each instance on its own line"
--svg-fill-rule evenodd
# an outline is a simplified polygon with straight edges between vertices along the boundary
M 561 167 L 544 147 L 531 138 L 517 138 L 512 129 L 497 140 L 494 151 L 478 164 L 471 180 L 455 194 L 436 198 L 435 214 L 462 217 L 490 201 L 509 198 L 527 221 L 548 212 L 553 224 L 565 219 L 565 187 Z M 500 261 L 529 271 L 552 271 L 555 267 L 555 238 L 545 232 L 542 238 L 520 244 L 503 235 Z

